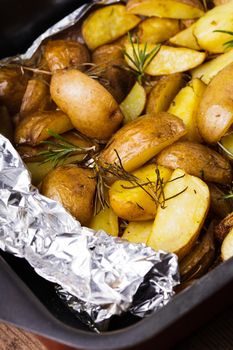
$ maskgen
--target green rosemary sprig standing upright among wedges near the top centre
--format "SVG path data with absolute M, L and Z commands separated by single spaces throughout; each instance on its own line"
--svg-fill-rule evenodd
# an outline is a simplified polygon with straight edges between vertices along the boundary
M 128 69 L 132 71 L 134 75 L 136 75 L 138 83 L 142 85 L 146 79 L 146 68 L 158 54 L 161 44 L 156 45 L 153 50 L 147 52 L 147 43 L 139 44 L 138 36 L 136 36 L 134 42 L 133 37 L 130 33 L 128 33 L 128 37 L 130 45 L 132 47 L 133 57 L 131 57 L 128 52 L 126 52 L 126 50 L 124 50 L 123 53 L 133 64 L 133 67 L 129 67 Z

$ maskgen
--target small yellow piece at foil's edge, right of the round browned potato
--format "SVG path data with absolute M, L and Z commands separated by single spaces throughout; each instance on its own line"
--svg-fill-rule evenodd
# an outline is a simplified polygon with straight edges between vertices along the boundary
M 96 231 L 103 230 L 111 236 L 117 237 L 119 232 L 118 217 L 111 208 L 102 209 L 93 216 L 89 227 Z

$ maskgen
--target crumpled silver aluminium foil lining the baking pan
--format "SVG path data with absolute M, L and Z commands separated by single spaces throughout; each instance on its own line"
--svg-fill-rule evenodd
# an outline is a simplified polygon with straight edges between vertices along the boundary
M 43 40 L 76 24 L 94 5 L 85 4 L 40 35 L 22 55 L 30 59 Z M 92 329 L 105 330 L 113 315 L 144 317 L 165 305 L 179 283 L 175 254 L 155 252 L 103 231 L 82 227 L 59 203 L 31 185 L 30 174 L 10 142 L 0 135 L 0 248 L 25 258 L 57 284 L 65 304 Z

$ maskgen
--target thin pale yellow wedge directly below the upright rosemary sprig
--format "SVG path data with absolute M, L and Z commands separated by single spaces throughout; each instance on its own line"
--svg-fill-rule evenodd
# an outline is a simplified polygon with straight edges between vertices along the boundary
M 120 104 L 124 123 L 126 124 L 139 117 L 144 110 L 145 104 L 146 91 L 142 85 L 136 82 L 124 101 Z

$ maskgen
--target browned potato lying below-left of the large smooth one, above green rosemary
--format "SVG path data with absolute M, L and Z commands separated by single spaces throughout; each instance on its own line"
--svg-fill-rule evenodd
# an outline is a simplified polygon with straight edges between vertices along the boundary
M 50 137 L 48 130 L 62 134 L 71 129 L 70 119 L 61 111 L 35 112 L 19 122 L 15 130 L 15 143 L 38 145 Z

